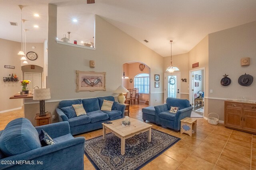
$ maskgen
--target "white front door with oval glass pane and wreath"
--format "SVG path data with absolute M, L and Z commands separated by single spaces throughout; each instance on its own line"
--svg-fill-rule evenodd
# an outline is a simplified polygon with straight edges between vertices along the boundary
M 180 98 L 180 72 L 164 74 L 164 102 L 169 97 Z

